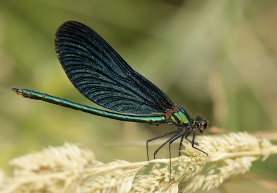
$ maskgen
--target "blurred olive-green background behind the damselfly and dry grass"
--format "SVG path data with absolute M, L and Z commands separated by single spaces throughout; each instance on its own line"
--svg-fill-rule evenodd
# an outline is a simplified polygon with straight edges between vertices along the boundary
M 12 92 L 27 88 L 96 107 L 71 85 L 55 54 L 55 31 L 67 20 L 93 28 L 172 101 L 207 117 L 211 126 L 227 132 L 277 128 L 276 1 L 2 0 L 1 169 L 8 172 L 11 158 L 63 142 L 87 144 L 104 162 L 143 161 L 145 145 L 105 144 L 144 142 L 172 129 L 96 117 Z M 251 171 L 277 181 L 276 163 L 271 156 Z

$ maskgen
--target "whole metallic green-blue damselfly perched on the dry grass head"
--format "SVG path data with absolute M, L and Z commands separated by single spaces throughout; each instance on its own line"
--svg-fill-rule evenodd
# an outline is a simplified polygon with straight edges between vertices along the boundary
M 176 126 L 175 131 L 147 140 L 148 160 L 149 142 L 161 137 L 170 136 L 154 151 L 154 158 L 163 146 L 168 144 L 170 149 L 172 142 L 178 139 L 180 139 L 180 156 L 181 142 L 184 138 L 188 140 L 190 133 L 193 138 L 189 141 L 193 148 L 197 149 L 195 132 L 203 133 L 207 121 L 200 116 L 193 119 L 184 108 L 172 103 L 166 94 L 134 71 L 91 28 L 79 22 L 65 22 L 55 34 L 55 49 L 64 72 L 79 92 L 99 106 L 114 110 L 114 112 L 91 108 L 33 90 L 17 88 L 12 90 L 26 98 L 42 100 L 111 119 Z M 169 156 L 171 165 L 170 151 Z

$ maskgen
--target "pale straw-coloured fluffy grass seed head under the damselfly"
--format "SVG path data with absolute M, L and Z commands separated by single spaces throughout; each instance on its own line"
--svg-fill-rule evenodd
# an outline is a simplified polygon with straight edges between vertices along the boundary
M 198 137 L 208 157 L 184 143 L 185 156 L 149 162 L 104 164 L 91 150 L 65 143 L 10 161 L 14 174 L 0 173 L 1 192 L 195 192 L 211 190 L 249 171 L 253 161 L 277 153 L 265 138 L 247 133 Z M 203 169 L 205 167 L 205 171 Z M 201 172 L 202 171 L 202 172 Z M 201 172 L 201 173 L 200 173 Z

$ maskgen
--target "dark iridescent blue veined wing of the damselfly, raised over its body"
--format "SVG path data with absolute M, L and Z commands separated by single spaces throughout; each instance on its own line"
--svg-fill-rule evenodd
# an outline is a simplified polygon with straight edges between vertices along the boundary
M 57 29 L 55 48 L 71 83 L 100 106 L 139 115 L 165 113 L 174 106 L 166 94 L 84 24 L 62 24 Z

